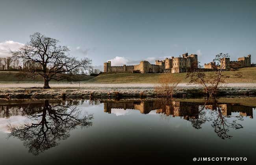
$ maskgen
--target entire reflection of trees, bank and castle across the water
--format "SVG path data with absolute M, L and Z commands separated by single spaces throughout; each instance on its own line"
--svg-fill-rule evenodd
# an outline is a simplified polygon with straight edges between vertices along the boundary
M 28 103 L 26 103 L 28 101 Z M 9 137 L 20 139 L 29 152 L 38 155 L 55 147 L 60 140 L 67 139 L 70 131 L 77 126 L 89 127 L 93 116 L 81 113 L 78 108 L 84 100 L 9 100 L 0 102 L 0 117 L 24 116 L 26 123 L 9 124 Z M 245 116 L 253 119 L 254 106 L 239 103 L 222 103 L 212 101 L 175 101 L 158 100 L 90 100 L 90 105 L 99 105 L 104 112 L 111 114 L 117 109 L 139 110 L 141 114 L 154 112 L 172 119 L 179 117 L 191 123 L 193 129 L 201 129 L 206 123 L 221 139 L 230 139 L 231 129 L 241 129 Z M 102 104 L 102 106 L 100 106 Z M 238 113 L 239 112 L 239 113 Z M 104 116 L 106 117 L 106 116 Z M 147 117 L 147 116 L 145 116 Z M 105 118 L 108 119 L 108 118 Z M 150 121 L 149 121 L 150 122 Z M 117 124 L 118 125 L 118 124 Z

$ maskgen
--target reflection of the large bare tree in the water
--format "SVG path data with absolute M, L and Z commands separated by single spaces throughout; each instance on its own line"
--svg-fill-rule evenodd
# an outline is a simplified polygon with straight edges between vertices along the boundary
M 28 108 L 33 112 L 33 108 Z M 80 117 L 81 112 L 75 103 L 64 102 L 63 104 L 52 105 L 48 100 L 44 101 L 41 110 L 37 114 L 30 114 L 28 117 L 32 123 L 22 126 L 7 126 L 9 137 L 16 137 L 23 141 L 29 152 L 38 155 L 45 150 L 58 145 L 58 141 L 67 139 L 70 130 L 77 126 L 89 127 L 92 125 L 93 115 Z

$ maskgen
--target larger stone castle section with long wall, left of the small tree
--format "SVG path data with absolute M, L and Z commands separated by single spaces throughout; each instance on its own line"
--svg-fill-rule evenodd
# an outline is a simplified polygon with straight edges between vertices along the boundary
M 157 60 L 156 64 L 141 61 L 137 65 L 111 66 L 111 61 L 108 61 L 104 63 L 104 72 L 181 73 L 187 72 L 193 63 L 197 64 L 197 55 L 185 53 L 182 54 L 182 57 L 166 58 L 163 61 Z

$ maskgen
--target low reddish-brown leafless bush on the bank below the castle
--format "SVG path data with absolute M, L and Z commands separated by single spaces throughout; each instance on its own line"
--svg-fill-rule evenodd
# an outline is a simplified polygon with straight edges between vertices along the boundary
M 174 78 L 172 73 L 164 73 L 158 79 L 158 85 L 154 87 L 158 95 L 172 97 L 173 90 L 180 83 L 180 78 Z

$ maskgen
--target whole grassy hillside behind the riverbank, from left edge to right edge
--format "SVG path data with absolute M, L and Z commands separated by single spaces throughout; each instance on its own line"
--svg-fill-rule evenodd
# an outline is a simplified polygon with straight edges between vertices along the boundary
M 214 74 L 214 72 L 205 72 L 206 75 Z M 81 75 L 79 79 L 82 83 L 158 83 L 158 78 L 163 73 L 108 73 L 101 74 L 97 77 Z M 187 83 L 187 73 L 173 73 L 173 77 L 182 79 L 181 83 Z M 223 72 L 227 83 L 256 83 L 256 67 L 241 68 L 236 71 Z M 236 75 L 242 75 L 237 77 Z M 22 77 L 19 72 L 0 72 L 0 83 L 39 83 L 43 82 L 42 77 L 35 79 Z M 54 83 L 56 81 L 51 81 Z M 57 82 L 56 82 L 57 83 Z

